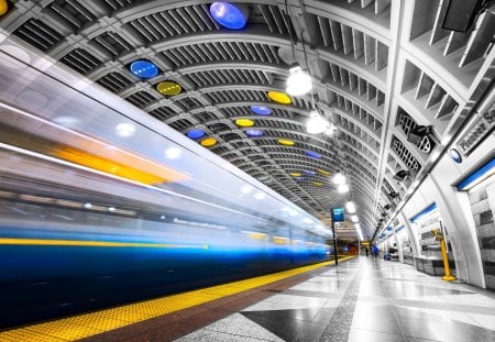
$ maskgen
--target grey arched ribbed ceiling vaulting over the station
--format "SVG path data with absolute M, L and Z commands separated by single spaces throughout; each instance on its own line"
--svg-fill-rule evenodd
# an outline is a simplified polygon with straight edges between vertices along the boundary
M 364 235 L 372 236 L 466 119 L 461 112 L 493 62 L 485 53 L 492 12 L 479 16 L 480 30 L 460 33 L 442 29 L 441 0 L 232 2 L 250 10 L 244 30 L 221 27 L 205 0 L 12 1 L 0 26 L 157 123 L 182 133 L 205 130 L 219 142 L 209 150 L 317 217 L 352 198 Z M 338 128 L 333 136 L 306 133 L 310 95 L 292 104 L 267 97 L 285 89 L 292 46 L 309 68 L 318 107 Z M 129 71 L 143 58 L 157 65 L 156 77 Z M 163 80 L 183 92 L 162 95 Z M 256 115 L 252 104 L 273 113 Z M 234 122 L 241 118 L 264 135 L 249 137 Z M 408 141 L 418 125 L 431 125 L 433 139 Z M 304 180 L 289 175 L 305 170 L 316 173 Z M 411 177 L 393 179 L 398 170 Z M 346 175 L 350 194 L 337 192 L 337 172 Z

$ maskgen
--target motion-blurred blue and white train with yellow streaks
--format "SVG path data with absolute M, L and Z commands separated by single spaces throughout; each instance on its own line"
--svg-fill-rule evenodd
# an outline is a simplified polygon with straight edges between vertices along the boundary
M 332 255 L 318 218 L 78 75 L 3 52 L 0 75 L 0 328 Z

